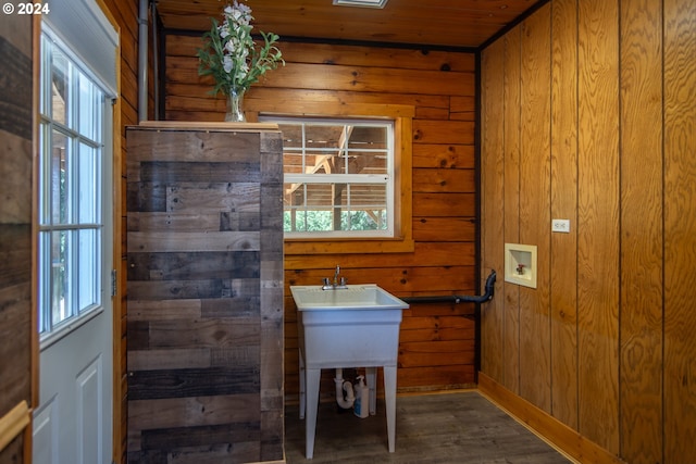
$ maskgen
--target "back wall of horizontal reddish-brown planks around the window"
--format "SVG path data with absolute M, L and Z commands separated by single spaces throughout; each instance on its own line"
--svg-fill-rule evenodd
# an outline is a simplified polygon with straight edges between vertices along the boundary
M 166 118 L 221 121 L 224 101 L 197 75 L 199 37 L 166 36 Z M 474 67 L 472 53 L 282 43 L 286 66 L 252 87 L 247 100 L 274 100 L 288 112 L 306 103 L 407 104 L 412 124 L 414 251 L 286 255 L 286 398 L 297 401 L 296 308 L 289 285 L 320 284 L 339 264 L 348 283 L 375 283 L 397 296 L 472 294 L 475 277 Z M 263 108 L 262 103 L 257 106 Z M 472 305 L 414 304 L 401 326 L 400 391 L 474 385 Z M 333 394 L 333 373 L 322 393 Z

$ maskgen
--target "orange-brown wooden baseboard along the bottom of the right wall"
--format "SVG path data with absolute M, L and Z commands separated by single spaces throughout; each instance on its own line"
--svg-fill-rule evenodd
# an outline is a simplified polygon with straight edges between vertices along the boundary
M 625 464 L 618 456 L 502 387 L 484 373 L 478 373 L 478 392 L 576 462 Z

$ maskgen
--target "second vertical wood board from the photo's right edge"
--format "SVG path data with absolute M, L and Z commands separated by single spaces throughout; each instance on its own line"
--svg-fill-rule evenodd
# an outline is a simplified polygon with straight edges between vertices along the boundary
M 621 434 L 631 463 L 662 460 L 662 12 L 621 4 Z M 641 188 L 632 188 L 641 186 Z

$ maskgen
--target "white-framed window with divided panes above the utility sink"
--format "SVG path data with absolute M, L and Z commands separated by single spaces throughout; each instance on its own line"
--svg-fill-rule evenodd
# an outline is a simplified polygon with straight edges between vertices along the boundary
M 394 237 L 393 121 L 271 122 L 283 133 L 286 237 Z

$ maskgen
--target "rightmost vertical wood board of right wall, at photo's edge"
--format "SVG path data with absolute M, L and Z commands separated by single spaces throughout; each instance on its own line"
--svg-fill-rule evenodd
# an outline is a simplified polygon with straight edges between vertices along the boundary
M 696 457 L 696 1 L 663 2 L 664 462 Z

